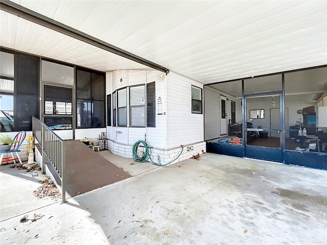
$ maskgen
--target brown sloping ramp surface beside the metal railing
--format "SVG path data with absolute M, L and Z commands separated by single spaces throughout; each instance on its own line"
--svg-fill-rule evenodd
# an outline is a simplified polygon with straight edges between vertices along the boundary
M 80 140 L 65 146 L 66 191 L 72 197 L 132 177 Z

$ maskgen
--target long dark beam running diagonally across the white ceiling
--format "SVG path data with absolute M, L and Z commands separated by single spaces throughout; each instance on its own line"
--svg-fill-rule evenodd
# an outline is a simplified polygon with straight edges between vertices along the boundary
M 74 28 L 68 27 L 65 24 L 62 24 L 56 20 L 53 20 L 51 18 L 48 18 L 44 15 L 41 15 L 37 12 L 34 12 L 30 9 L 27 9 L 25 7 L 22 7 L 18 4 L 15 4 L 13 2 L 10 2 L 8 0 L 1 0 L 0 1 L 0 9 L 3 11 L 6 11 L 10 14 L 16 15 L 18 17 L 27 19 L 29 21 L 32 21 L 34 23 L 39 24 L 40 26 L 49 28 L 51 30 L 54 30 L 56 32 L 62 33 L 64 35 L 67 35 L 69 37 L 73 37 L 75 39 L 78 39 L 80 41 L 86 42 L 88 44 L 91 44 L 93 46 L 102 48 L 103 50 L 106 50 L 110 53 L 122 56 L 126 59 L 135 61 L 137 63 L 146 65 L 148 67 L 151 67 L 153 69 L 165 72 L 166 74 L 169 73 L 169 69 L 166 67 L 163 67 L 161 65 L 158 65 L 156 63 L 153 63 L 149 60 L 146 60 L 142 57 L 139 57 L 137 55 L 134 55 L 132 53 L 129 53 L 125 50 L 122 50 L 119 47 L 113 46 L 107 42 L 104 42 L 98 38 L 92 37 L 90 35 L 87 35 L 86 33 L 80 32 Z

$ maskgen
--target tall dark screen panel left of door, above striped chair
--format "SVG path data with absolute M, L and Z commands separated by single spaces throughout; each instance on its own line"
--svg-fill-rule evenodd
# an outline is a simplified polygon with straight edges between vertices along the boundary
M 17 55 L 17 120 L 16 131 L 32 130 L 32 116 L 38 113 L 39 60 L 25 55 Z

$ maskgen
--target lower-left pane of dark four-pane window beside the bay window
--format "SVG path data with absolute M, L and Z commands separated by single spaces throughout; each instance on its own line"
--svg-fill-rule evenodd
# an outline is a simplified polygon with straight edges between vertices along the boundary
M 90 128 L 92 125 L 90 100 L 77 100 L 77 128 Z

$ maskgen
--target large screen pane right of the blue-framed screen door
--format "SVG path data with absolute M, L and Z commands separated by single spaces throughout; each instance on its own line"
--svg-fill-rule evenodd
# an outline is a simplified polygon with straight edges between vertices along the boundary
M 327 152 L 326 78 L 327 67 L 285 74 L 286 149 Z

